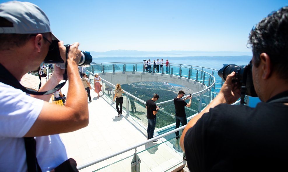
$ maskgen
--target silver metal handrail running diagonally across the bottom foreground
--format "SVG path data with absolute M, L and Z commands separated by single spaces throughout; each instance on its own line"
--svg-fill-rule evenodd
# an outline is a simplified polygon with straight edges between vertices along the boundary
M 176 128 L 176 129 L 174 129 L 174 130 L 172 130 L 172 131 L 169 131 L 169 132 L 167 132 L 167 133 L 164 133 L 164 134 L 158 135 L 158 136 L 156 136 L 156 137 L 153 137 L 152 139 L 146 140 L 146 141 L 144 141 L 144 142 L 135 144 L 134 146 L 131 146 L 131 147 L 129 147 L 129 148 L 126 148 L 126 149 L 123 149 L 123 150 L 121 150 L 121 151 L 112 153 L 112 154 L 110 154 L 110 155 L 107 155 L 107 156 L 105 156 L 105 157 L 99 158 L 99 159 L 97 159 L 97 160 L 88 162 L 88 163 L 86 163 L 86 164 L 83 164 L 83 165 L 77 167 L 77 169 L 78 169 L 78 170 L 82 170 L 82 169 L 84 169 L 84 168 L 86 168 L 86 167 L 88 167 L 88 166 L 91 166 L 91 165 L 97 164 L 97 163 L 99 163 L 99 162 L 105 161 L 105 160 L 107 160 L 107 159 L 109 159 L 109 158 L 111 158 L 111 157 L 120 155 L 120 154 L 125 153 L 125 152 L 127 152 L 127 151 L 131 151 L 132 149 L 135 149 L 135 148 L 138 148 L 138 147 L 140 147 L 140 146 L 143 146 L 143 145 L 145 145 L 145 144 L 147 144 L 147 143 L 152 142 L 153 140 L 157 140 L 157 139 L 160 139 L 160 138 L 162 138 L 162 137 L 165 137 L 165 136 L 167 136 L 167 135 L 169 135 L 169 134 L 175 133 L 176 131 L 180 131 L 180 130 L 184 129 L 185 127 L 186 127 L 186 125 L 184 125 L 184 126 L 182 126 L 182 127 L 179 127 L 179 128 Z

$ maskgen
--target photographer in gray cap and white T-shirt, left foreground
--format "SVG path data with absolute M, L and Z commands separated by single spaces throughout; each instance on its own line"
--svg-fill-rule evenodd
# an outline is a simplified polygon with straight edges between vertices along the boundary
M 48 17 L 38 6 L 19 1 L 0 4 L 0 69 L 11 75 L 11 80 L 20 81 L 28 71 L 38 70 L 48 51 L 58 48 L 51 44 L 53 39 L 56 37 Z M 66 61 L 66 47 L 62 41 L 58 46 Z M 65 106 L 49 103 L 51 94 L 28 95 L 0 82 L 0 171 L 54 171 L 68 159 L 58 134 L 88 125 L 87 95 L 77 70 L 81 57 L 78 46 L 78 42 L 71 45 L 67 59 L 69 89 Z M 63 73 L 55 65 L 39 91 L 54 88 L 63 80 Z M 23 137 L 35 137 L 36 150 L 25 145 Z M 34 159 L 26 158 L 28 154 Z

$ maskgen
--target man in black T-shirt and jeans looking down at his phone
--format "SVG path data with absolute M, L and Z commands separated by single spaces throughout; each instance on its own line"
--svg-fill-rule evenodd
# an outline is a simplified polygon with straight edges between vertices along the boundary
M 149 139 L 153 138 L 154 129 L 156 125 L 156 114 L 158 113 L 159 107 L 155 104 L 155 102 L 159 99 L 159 95 L 155 94 L 152 99 L 147 100 L 146 109 L 147 109 L 147 119 L 148 119 L 148 127 L 147 127 L 147 137 Z M 154 140 L 153 142 L 157 142 L 158 140 Z

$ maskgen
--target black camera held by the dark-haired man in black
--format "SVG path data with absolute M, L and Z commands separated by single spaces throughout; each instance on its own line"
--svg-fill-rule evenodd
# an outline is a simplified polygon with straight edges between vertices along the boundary
M 226 80 L 227 75 L 231 72 L 235 72 L 235 76 L 232 79 L 234 83 L 241 83 L 241 95 L 249 95 L 252 97 L 258 97 L 254 89 L 252 80 L 252 62 L 246 66 L 237 66 L 235 64 L 223 64 L 223 68 L 218 71 L 219 77 Z

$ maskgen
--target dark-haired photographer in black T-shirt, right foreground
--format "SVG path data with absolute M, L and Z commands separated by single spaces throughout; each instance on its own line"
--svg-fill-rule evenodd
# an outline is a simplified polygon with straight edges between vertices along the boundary
M 240 87 L 227 76 L 219 94 L 180 138 L 190 171 L 283 171 L 288 161 L 288 7 L 250 32 L 252 78 L 262 101 L 231 106 Z

